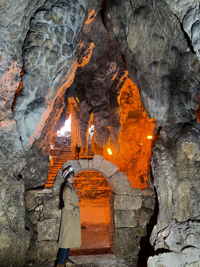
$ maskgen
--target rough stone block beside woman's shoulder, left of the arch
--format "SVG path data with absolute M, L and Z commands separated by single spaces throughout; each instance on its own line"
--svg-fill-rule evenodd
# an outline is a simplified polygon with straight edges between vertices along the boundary
M 43 204 L 45 218 L 61 218 L 61 210 L 58 209 L 59 201 L 60 199 L 58 196 L 53 196 Z

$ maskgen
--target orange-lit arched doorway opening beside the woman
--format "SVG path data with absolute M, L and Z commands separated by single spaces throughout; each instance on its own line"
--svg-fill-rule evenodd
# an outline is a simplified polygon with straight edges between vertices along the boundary
M 109 193 L 106 178 L 96 171 L 75 175 L 74 186 L 81 199 L 81 247 L 71 249 L 70 255 L 111 253 L 109 229 Z

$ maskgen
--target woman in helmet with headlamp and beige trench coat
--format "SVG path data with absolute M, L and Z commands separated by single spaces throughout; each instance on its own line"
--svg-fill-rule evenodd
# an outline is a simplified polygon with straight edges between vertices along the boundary
M 81 246 L 81 213 L 77 203 L 81 200 L 73 186 L 74 172 L 71 165 L 63 170 L 64 182 L 60 190 L 60 204 L 62 209 L 58 246 L 61 248 L 57 267 L 70 266 L 68 262 L 70 248 Z

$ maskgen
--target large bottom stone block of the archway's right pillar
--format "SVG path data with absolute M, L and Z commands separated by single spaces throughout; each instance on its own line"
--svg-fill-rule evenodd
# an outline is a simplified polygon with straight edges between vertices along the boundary
M 138 254 L 133 228 L 116 228 L 114 254 L 119 257 L 135 256 Z

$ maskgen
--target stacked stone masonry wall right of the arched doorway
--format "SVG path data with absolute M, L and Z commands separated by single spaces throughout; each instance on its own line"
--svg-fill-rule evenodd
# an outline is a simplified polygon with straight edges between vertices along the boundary
M 151 188 L 132 188 L 128 195 L 111 192 L 110 198 L 112 252 L 123 258 L 138 259 L 139 252 L 150 244 L 147 229 L 155 207 L 155 192 Z

